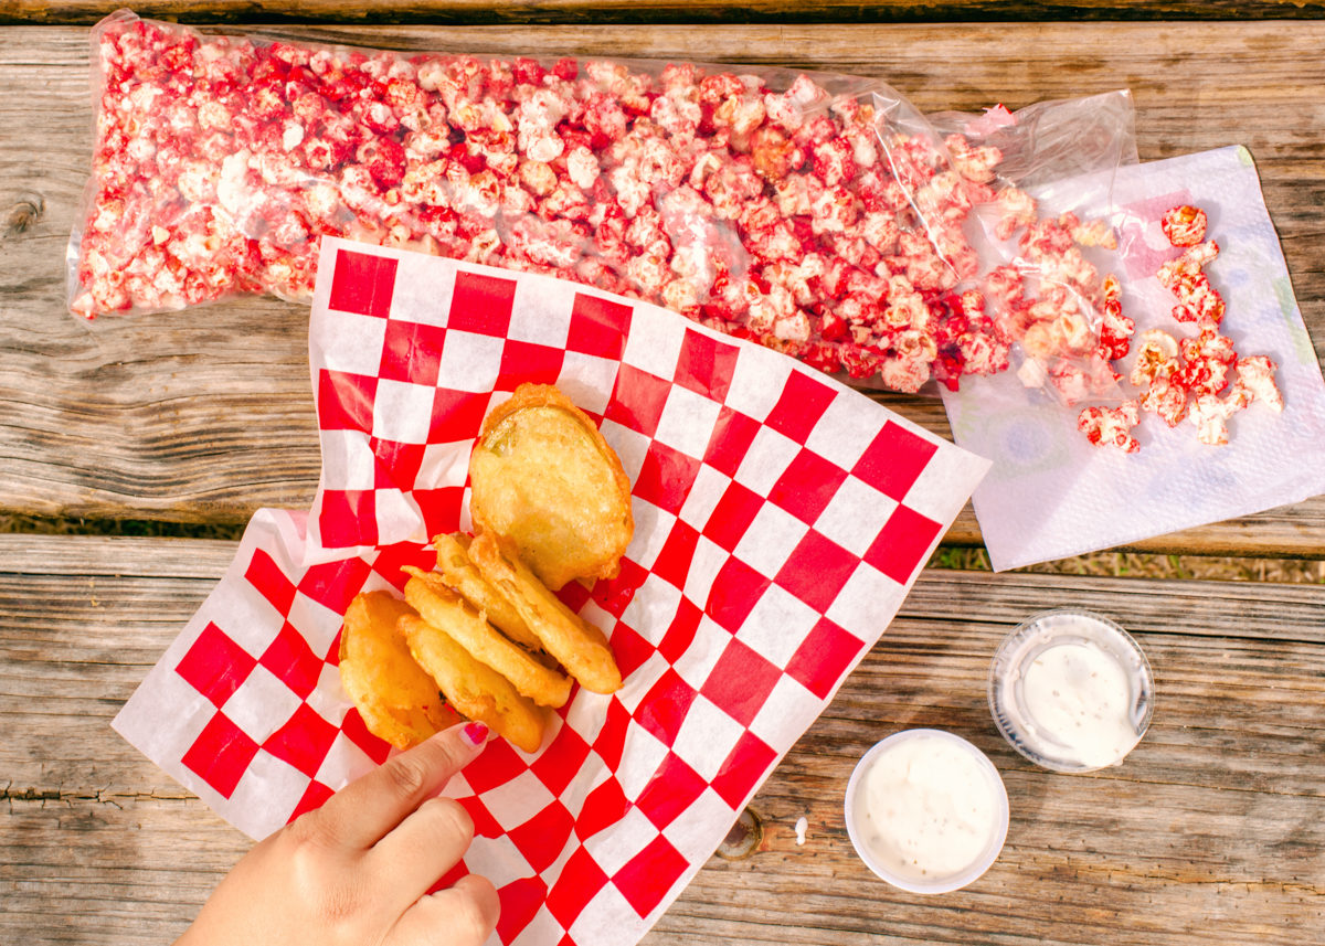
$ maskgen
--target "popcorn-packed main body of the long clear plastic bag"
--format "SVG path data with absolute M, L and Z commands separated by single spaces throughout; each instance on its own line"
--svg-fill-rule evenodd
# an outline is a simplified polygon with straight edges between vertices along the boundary
M 306 299 L 330 233 L 592 284 L 900 391 L 1007 367 L 1006 329 L 961 291 L 1000 184 L 880 82 L 408 56 L 123 11 L 93 50 L 80 315 Z

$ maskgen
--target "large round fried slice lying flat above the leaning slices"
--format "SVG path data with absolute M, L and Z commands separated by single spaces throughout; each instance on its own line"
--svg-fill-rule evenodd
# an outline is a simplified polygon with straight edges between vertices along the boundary
M 480 530 L 515 545 L 554 591 L 613 578 L 635 534 L 631 482 L 592 419 L 550 384 L 521 384 L 484 420 L 469 461 Z

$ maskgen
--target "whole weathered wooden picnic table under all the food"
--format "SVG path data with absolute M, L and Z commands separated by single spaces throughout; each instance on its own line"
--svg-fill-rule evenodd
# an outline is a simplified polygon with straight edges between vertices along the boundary
M 65 311 L 91 136 L 85 24 L 111 8 L 0 11 L 12 24 L 0 28 L 0 513 L 233 525 L 260 506 L 306 506 L 318 474 L 306 307 L 246 298 L 90 325 Z M 140 12 L 235 26 L 253 9 Z M 1055 20 L 1068 8 L 961 0 L 266 9 L 281 32 L 354 45 L 874 76 L 928 111 L 1129 87 L 1142 159 L 1251 150 L 1325 358 L 1321 4 L 1116 0 L 1072 8 L 1089 20 L 1076 23 Z M 935 400 L 880 399 L 946 435 Z M 970 510 L 947 541 L 979 542 Z M 1322 558 L 1325 497 L 1134 547 Z M 0 942 L 167 942 L 248 849 L 109 727 L 233 552 L 208 539 L 0 535 Z M 1053 775 L 992 727 L 994 648 L 1060 604 L 1114 616 L 1154 666 L 1154 722 L 1120 768 Z M 855 761 L 910 726 L 974 741 L 1011 796 L 1002 857 L 954 894 L 893 890 L 845 836 Z M 1325 943 L 1325 587 L 929 570 L 751 810 L 754 852 L 706 865 L 647 946 Z

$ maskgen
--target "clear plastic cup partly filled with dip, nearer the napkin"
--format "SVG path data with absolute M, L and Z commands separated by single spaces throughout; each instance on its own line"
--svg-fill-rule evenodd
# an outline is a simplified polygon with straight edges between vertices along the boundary
M 1044 611 L 999 644 L 990 713 L 1012 749 L 1056 772 L 1116 766 L 1150 726 L 1154 677 L 1137 643 L 1080 608 Z

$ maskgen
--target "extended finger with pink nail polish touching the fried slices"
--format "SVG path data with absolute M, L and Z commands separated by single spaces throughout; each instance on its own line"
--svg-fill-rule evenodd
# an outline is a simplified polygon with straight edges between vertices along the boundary
M 450 778 L 473 762 L 488 742 L 488 726 L 466 722 L 443 730 L 387 759 L 338 791 L 314 815 L 339 848 L 366 851 L 384 837 Z

